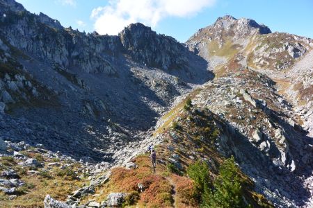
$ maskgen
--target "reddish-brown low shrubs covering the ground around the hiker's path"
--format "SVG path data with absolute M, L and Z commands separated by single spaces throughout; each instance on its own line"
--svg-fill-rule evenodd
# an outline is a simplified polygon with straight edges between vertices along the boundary
M 166 177 L 162 176 L 166 171 L 166 166 L 157 164 L 157 173 L 154 174 L 149 156 L 141 155 L 134 161 L 138 164 L 136 169 L 113 168 L 110 181 L 97 188 L 96 193 L 99 193 L 100 196 L 95 200 L 101 202 L 109 193 L 113 192 L 140 191 L 138 183 L 142 183 L 145 191 L 140 193 L 138 207 L 172 207 L 172 187 Z M 88 198 L 85 198 L 83 202 L 87 200 Z

